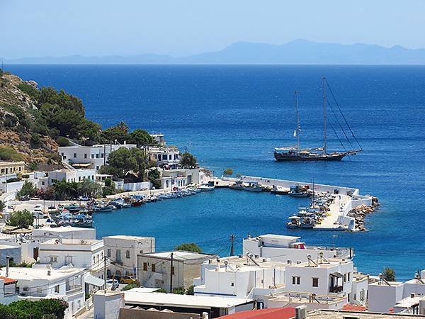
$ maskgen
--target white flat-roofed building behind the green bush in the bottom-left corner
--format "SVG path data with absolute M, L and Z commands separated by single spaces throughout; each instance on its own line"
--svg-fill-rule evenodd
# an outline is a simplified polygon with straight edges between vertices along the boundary
M 69 303 L 65 318 L 84 306 L 84 269 L 52 269 L 48 265 L 34 264 L 32 268 L 10 267 L 0 270 L 0 276 L 15 279 L 18 299 L 61 298 Z

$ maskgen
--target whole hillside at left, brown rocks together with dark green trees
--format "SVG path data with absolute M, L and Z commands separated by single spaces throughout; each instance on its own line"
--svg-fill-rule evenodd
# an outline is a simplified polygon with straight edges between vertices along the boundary
M 34 81 L 0 70 L 0 160 L 35 164 L 60 164 L 58 144 L 68 139 L 84 145 L 124 141 L 154 145 L 146 130 L 128 130 L 121 122 L 106 130 L 85 117 L 77 96 L 52 87 L 38 89 Z

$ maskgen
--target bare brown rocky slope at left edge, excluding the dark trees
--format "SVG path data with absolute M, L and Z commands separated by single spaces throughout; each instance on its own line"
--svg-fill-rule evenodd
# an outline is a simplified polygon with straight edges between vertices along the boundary
M 60 162 L 57 143 L 35 130 L 37 83 L 0 71 L 0 159 L 23 159 L 26 164 Z

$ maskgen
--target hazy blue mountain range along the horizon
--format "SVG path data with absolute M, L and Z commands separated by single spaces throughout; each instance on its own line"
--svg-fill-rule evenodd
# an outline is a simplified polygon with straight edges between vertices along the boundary
M 271 65 L 425 65 L 425 49 L 399 45 L 381 47 L 356 43 L 317 43 L 294 40 L 283 45 L 237 42 L 215 52 L 187 57 L 170 55 L 108 55 L 103 57 L 23 57 L 5 60 L 9 64 L 271 64 Z

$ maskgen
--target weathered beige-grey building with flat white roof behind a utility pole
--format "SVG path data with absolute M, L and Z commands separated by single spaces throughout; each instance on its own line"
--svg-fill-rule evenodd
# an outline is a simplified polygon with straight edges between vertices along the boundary
M 200 276 L 200 264 L 212 258 L 215 258 L 212 254 L 181 251 L 139 254 L 137 279 L 144 287 L 170 291 L 173 276 L 173 289 L 180 287 L 187 289 L 193 284 L 193 279 Z

